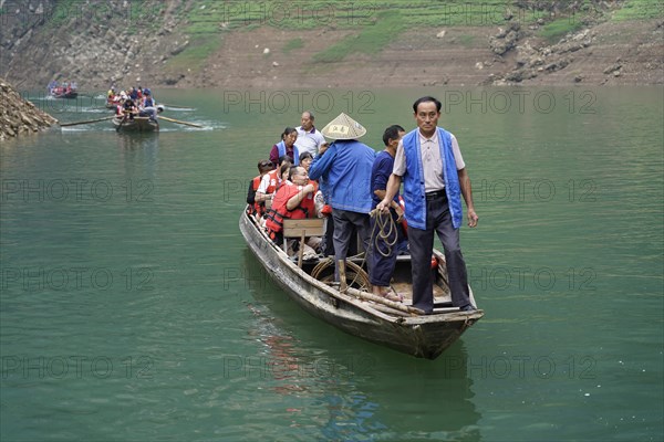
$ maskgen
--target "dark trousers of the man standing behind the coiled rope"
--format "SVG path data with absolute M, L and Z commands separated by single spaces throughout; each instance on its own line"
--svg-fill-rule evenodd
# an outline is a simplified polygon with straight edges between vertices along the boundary
M 390 281 L 392 280 L 392 273 L 394 273 L 394 266 L 396 264 L 396 255 L 398 252 L 398 231 L 401 227 L 396 224 L 397 215 L 394 209 L 390 209 L 390 214 L 394 220 L 394 229 L 384 233 L 390 233 L 385 238 L 381 236 L 381 232 L 376 228 L 377 218 L 371 219 L 371 273 L 369 274 L 369 282 L 372 285 L 378 285 L 381 287 L 388 287 Z M 387 243 L 394 243 L 387 245 Z

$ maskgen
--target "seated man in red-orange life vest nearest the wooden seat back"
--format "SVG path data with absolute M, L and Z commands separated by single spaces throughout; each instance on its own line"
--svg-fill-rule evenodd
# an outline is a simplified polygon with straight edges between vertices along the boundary
M 266 215 L 268 234 L 278 244 L 283 243 L 283 220 L 301 220 L 315 217 L 315 204 L 313 197 L 318 190 L 314 182 L 309 181 L 309 173 L 301 166 L 292 166 L 289 170 L 289 179 L 277 190 L 272 207 Z M 289 244 L 289 250 L 291 249 Z M 304 255 L 315 256 L 313 249 L 320 244 L 320 238 L 310 238 L 307 241 Z

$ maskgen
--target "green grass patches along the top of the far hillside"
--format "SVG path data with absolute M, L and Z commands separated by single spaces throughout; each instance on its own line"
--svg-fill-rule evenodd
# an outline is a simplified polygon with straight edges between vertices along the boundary
M 71 1 L 64 0 L 63 3 Z M 357 31 L 315 54 L 313 61 L 318 63 L 339 62 L 351 53 L 375 54 L 401 32 L 417 27 L 499 27 L 504 25 L 508 18 L 522 24 L 544 18 L 547 24 L 540 30 L 540 35 L 550 42 L 556 42 L 582 27 L 581 18 L 584 12 L 570 17 L 552 17 L 548 10 L 538 9 L 536 2 L 526 4 L 525 8 L 518 8 L 516 2 L 505 0 L 193 0 L 187 3 L 186 11 L 183 11 L 187 15 L 187 27 L 184 31 L 191 36 L 191 44 L 168 64 L 197 69 L 219 48 L 222 32 L 252 30 L 259 27 L 273 27 L 295 33 L 283 48 L 284 53 L 303 46 L 301 38 L 297 36 L 298 30 L 330 27 Z M 590 0 L 583 0 L 581 8 L 594 11 Z M 661 14 L 662 6 L 656 0 L 630 0 L 615 12 L 614 19 L 643 19 Z M 470 44 L 471 41 L 464 40 L 461 43 Z

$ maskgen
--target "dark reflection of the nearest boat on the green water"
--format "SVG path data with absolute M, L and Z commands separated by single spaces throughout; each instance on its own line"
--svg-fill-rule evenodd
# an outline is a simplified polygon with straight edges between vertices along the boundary
M 249 250 L 246 277 L 257 326 L 280 394 L 310 397 L 315 435 L 326 440 L 478 441 L 481 415 L 461 341 L 425 360 L 350 336 L 302 311 Z M 264 282 L 264 284 L 262 284 Z M 304 417 L 302 417 L 304 418 Z M 310 427 L 311 422 L 300 422 Z

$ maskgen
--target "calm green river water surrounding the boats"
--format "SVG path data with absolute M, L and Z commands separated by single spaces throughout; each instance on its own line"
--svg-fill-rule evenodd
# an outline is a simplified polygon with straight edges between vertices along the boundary
M 662 87 L 155 92 L 205 128 L 0 147 L 3 442 L 663 440 Z M 434 361 L 310 317 L 238 229 L 302 109 L 378 150 L 424 94 L 473 180 L 486 313 Z

